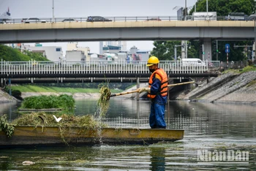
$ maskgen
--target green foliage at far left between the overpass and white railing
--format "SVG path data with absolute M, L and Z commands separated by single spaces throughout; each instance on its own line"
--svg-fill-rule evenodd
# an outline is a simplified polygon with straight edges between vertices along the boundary
M 32 58 L 36 61 L 48 61 L 47 58 L 43 57 L 42 54 L 32 53 L 25 51 L 23 54 L 18 49 L 8 47 L 6 45 L 0 45 L 0 57 L 4 61 L 30 61 Z

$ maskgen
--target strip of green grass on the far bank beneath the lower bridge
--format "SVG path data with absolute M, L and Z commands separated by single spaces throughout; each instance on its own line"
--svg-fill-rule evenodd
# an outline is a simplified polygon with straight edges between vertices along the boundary
M 15 85 L 11 86 L 12 90 L 21 92 L 49 92 L 49 93 L 99 93 L 98 88 L 64 88 L 53 86 L 34 86 L 34 85 Z M 111 93 L 120 93 L 121 90 L 111 89 Z

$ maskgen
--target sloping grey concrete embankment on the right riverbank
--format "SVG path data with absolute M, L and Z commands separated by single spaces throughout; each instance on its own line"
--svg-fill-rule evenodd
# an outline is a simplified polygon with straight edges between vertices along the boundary
M 220 75 L 178 99 L 256 104 L 256 72 Z

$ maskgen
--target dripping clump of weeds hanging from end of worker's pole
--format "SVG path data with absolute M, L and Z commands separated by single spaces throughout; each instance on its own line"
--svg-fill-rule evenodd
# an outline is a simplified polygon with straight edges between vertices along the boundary
M 96 116 L 99 118 L 105 118 L 106 113 L 108 112 L 109 108 L 109 99 L 110 99 L 110 88 L 108 84 L 99 85 L 99 100 L 97 102 L 97 111 L 95 113 Z

